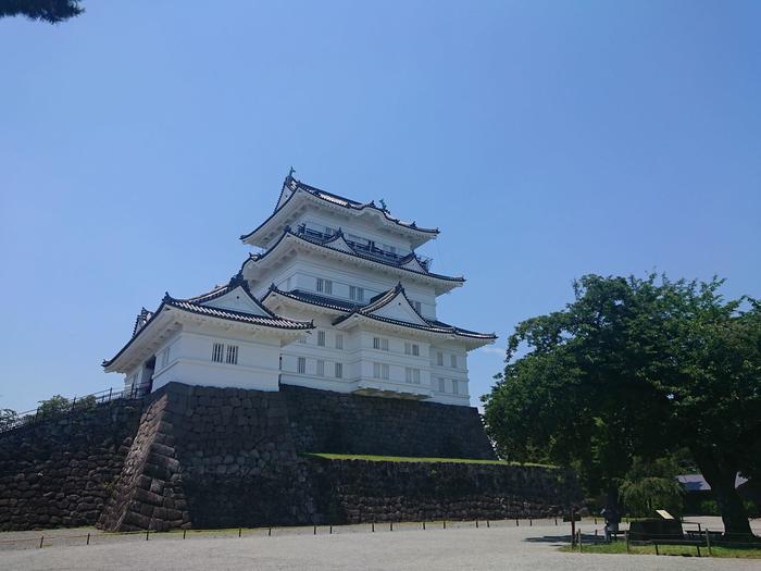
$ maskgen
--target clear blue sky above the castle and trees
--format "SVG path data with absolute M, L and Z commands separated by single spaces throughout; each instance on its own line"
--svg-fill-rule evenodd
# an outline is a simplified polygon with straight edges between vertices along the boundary
M 761 297 L 760 2 L 87 0 L 0 20 L 0 407 L 117 386 L 141 306 L 226 282 L 304 183 L 439 226 L 439 316 L 514 325 L 585 273 Z

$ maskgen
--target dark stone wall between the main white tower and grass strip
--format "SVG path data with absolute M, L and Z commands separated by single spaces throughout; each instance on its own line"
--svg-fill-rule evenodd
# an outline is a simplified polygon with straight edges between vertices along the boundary
M 299 451 L 494 459 L 478 410 L 283 385 Z

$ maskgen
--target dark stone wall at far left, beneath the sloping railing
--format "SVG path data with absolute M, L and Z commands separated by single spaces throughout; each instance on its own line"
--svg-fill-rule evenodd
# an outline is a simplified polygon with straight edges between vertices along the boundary
M 140 409 L 115 400 L 0 434 L 0 531 L 95 524 Z

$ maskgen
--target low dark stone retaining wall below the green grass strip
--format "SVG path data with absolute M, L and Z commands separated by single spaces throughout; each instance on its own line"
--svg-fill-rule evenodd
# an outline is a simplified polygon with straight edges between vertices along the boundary
M 310 459 L 333 523 L 549 518 L 579 498 L 560 469 Z

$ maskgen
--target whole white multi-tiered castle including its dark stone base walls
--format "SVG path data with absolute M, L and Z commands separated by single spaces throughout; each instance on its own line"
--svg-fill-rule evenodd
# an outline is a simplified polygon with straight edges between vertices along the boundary
M 120 398 L 0 433 L 0 530 L 560 513 L 573 476 L 495 461 L 470 406 L 496 337 L 439 320 L 464 280 L 415 252 L 437 234 L 288 176 L 227 284 L 140 312 Z

